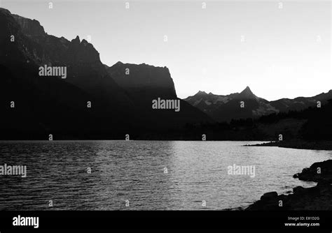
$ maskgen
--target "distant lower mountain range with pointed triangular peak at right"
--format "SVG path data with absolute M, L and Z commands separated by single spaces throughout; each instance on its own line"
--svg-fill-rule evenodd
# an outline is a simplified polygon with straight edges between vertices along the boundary
M 188 103 L 208 114 L 215 121 L 230 121 L 231 119 L 258 118 L 277 112 L 290 110 L 304 110 L 307 107 L 326 104 L 332 98 L 332 90 L 312 97 L 298 97 L 294 99 L 282 98 L 268 101 L 257 97 L 249 87 L 240 93 L 231 93 L 227 96 L 215 95 L 198 91 L 194 96 L 185 98 Z M 241 107 L 243 101 L 244 106 Z

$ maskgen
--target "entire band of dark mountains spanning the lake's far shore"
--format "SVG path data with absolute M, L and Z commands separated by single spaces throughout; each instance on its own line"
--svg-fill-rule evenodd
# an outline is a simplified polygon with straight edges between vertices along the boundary
M 325 105 L 332 91 L 269 102 L 247 87 L 228 96 L 199 91 L 181 100 L 167 67 L 120 61 L 106 66 L 87 40 L 48 35 L 38 21 L 4 8 L 0 31 L 0 140 L 47 140 L 49 134 L 55 140 L 124 139 L 126 134 L 137 140 L 202 140 L 202 134 L 208 140 L 263 140 L 275 139 L 280 132 L 314 138 L 317 127 L 331 128 L 323 117 L 331 113 L 331 103 L 320 113 L 324 122 L 319 126 L 314 118 L 318 110 L 300 112 L 295 120 L 292 114 L 287 119 L 270 115 L 279 123 L 220 122 L 304 110 L 317 101 Z M 41 76 L 44 66 L 66 68 L 66 78 Z M 162 105 L 154 109 L 156 99 L 179 101 L 180 111 Z M 314 120 L 305 125 L 306 119 Z M 320 138 L 330 137 L 324 135 Z

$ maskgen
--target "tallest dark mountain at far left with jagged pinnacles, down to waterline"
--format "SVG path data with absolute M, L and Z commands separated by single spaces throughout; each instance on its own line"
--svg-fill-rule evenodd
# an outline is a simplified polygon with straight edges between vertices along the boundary
M 132 102 L 90 43 L 49 36 L 2 8 L 0 31 L 1 138 L 96 137 L 129 125 Z M 45 65 L 66 67 L 67 78 L 39 76 Z

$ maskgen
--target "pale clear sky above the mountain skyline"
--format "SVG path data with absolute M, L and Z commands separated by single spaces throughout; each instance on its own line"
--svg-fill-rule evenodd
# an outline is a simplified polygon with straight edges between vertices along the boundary
M 329 1 L 1 2 L 48 34 L 91 36 L 108 66 L 167 66 L 180 98 L 247 86 L 267 100 L 332 89 Z

